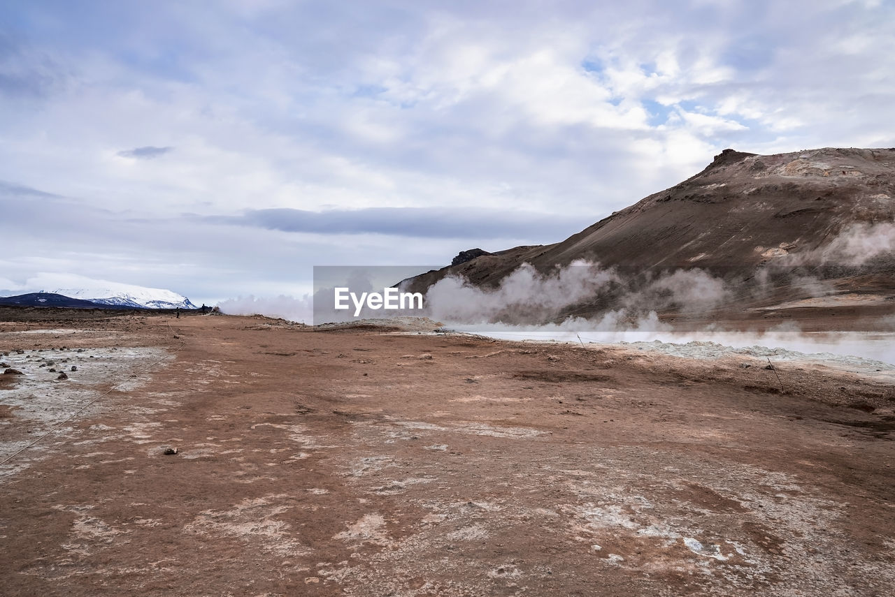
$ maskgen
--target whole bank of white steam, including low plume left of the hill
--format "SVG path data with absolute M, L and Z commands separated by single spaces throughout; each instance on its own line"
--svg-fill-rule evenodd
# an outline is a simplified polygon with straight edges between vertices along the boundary
M 807 334 L 794 324 L 766 332 L 729 331 L 713 324 L 684 331 L 677 323 L 674 326 L 666 323 L 678 316 L 685 320 L 692 316 L 712 321 L 721 319 L 725 310 L 729 319 L 742 321 L 743 301 L 756 309 L 845 304 L 835 301 L 856 296 L 861 300 L 883 301 L 886 299 L 883 295 L 840 297 L 842 290 L 834 285 L 833 279 L 867 271 L 867 268 L 879 270 L 880 265 L 888 267 L 890 256 L 895 257 L 895 223 L 857 223 L 840 231 L 822 248 L 780 256 L 755 270 L 729 269 L 720 272 L 723 275 L 700 268 L 637 271 L 576 260 L 564 267 L 540 271 L 533 265 L 523 264 L 491 286 L 448 275 L 430 286 L 422 312 L 365 308 L 361 316 L 425 315 L 458 331 L 514 340 L 661 341 L 695 345 L 710 341 L 739 347 L 768 345 L 859 355 L 895 363 L 895 349 L 891 348 L 895 347 L 891 338 L 895 332 L 895 315 L 879 317 L 874 324 L 879 332 L 874 334 Z M 325 283 L 315 283 L 313 296 L 249 296 L 226 300 L 219 307 L 233 315 L 262 314 L 307 323 L 352 321 L 356 320 L 353 314 L 332 307 L 334 284 L 357 292 L 381 290 L 420 273 L 388 268 L 374 272 L 375 269 L 333 268 L 334 271 L 325 272 L 329 276 Z M 780 290 L 784 292 L 779 294 Z M 828 297 L 828 302 L 822 301 Z M 780 300 L 786 305 L 780 305 Z M 767 307 L 762 307 L 763 303 Z

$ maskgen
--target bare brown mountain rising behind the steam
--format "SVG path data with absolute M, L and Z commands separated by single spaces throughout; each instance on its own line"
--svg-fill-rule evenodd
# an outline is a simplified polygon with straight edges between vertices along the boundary
M 702 172 L 567 240 L 495 253 L 461 252 L 454 265 L 404 286 L 425 291 L 456 275 L 474 287 L 496 288 L 523 264 L 550 273 L 581 260 L 647 282 L 680 268 L 700 268 L 741 285 L 798 271 L 824 281 L 824 292 L 881 292 L 892 309 L 895 148 L 827 147 L 772 156 L 726 149 Z M 816 294 L 816 289 L 780 285 L 772 296 L 744 291 L 738 307 Z M 579 304 L 574 312 L 590 315 L 607 307 L 604 300 Z

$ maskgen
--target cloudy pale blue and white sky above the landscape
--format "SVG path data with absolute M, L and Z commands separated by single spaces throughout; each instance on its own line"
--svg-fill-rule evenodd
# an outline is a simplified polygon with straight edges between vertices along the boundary
M 557 242 L 726 147 L 895 147 L 895 2 L 0 0 L 0 290 L 196 304 Z

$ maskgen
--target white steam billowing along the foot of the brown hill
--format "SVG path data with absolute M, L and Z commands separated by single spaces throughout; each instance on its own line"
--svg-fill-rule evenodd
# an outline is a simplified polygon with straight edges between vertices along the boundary
M 879 227 L 848 231 L 840 237 L 837 247 L 841 249 L 837 250 L 851 251 L 848 255 L 855 257 L 857 251 L 864 250 L 863 255 L 868 256 L 868 245 L 862 243 L 878 238 L 882 231 Z M 702 315 L 704 321 L 728 309 L 730 319 L 736 321 L 742 319 L 742 300 L 773 298 L 774 290 L 786 290 L 787 299 L 796 298 L 796 302 L 837 294 L 830 282 L 791 267 L 744 270 L 738 276 L 736 271 L 726 273 L 729 275 L 721 278 L 698 268 L 659 273 L 619 271 L 585 261 L 541 273 L 524 264 L 492 288 L 448 276 L 431 286 L 426 298 L 430 317 L 446 322 L 450 329 L 506 340 L 635 342 L 644 349 L 696 357 L 720 356 L 725 354 L 725 347 L 775 357 L 795 350 L 840 360 L 848 360 L 845 355 L 857 355 L 874 359 L 870 365 L 862 365 L 865 368 L 893 369 L 886 364 L 895 364 L 895 342 L 891 338 L 895 315 L 880 318 L 880 332 L 873 334 L 805 333 L 791 322 L 765 332 L 730 331 L 716 324 L 686 331 L 657 315 L 664 312 L 685 315 L 685 319 L 686 315 L 696 315 L 697 320 Z M 760 307 L 760 300 L 757 304 L 755 308 L 775 308 Z M 688 348 L 680 348 L 679 343 Z M 848 364 L 854 365 L 850 361 Z

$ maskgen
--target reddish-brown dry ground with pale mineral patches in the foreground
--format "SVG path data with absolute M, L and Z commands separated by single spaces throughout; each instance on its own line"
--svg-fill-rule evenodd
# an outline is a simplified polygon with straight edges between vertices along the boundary
M 895 589 L 891 381 L 230 316 L 0 352 L 0 459 L 56 425 L 0 467 L 4 595 Z

